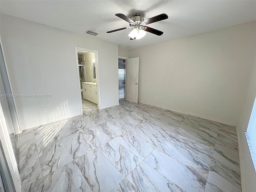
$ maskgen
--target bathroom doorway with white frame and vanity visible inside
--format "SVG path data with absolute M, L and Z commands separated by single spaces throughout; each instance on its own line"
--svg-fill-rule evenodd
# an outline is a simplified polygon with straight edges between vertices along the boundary
M 98 51 L 75 47 L 81 114 L 100 108 Z

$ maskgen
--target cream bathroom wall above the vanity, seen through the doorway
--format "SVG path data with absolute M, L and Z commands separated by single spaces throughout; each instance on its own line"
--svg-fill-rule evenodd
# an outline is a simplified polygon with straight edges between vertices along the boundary
M 86 81 L 93 82 L 96 81 L 96 78 L 93 78 L 93 60 L 95 63 L 94 53 L 88 52 L 84 54 L 85 59 L 85 68 L 86 68 Z

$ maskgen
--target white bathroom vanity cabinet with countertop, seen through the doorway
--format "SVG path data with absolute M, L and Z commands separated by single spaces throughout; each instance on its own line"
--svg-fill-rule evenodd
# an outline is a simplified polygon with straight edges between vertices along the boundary
M 83 82 L 83 97 L 84 99 L 98 104 L 97 85 L 93 82 Z

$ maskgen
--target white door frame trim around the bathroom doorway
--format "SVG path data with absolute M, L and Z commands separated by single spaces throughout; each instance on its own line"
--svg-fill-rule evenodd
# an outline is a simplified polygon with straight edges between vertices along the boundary
M 93 52 L 95 58 L 95 68 L 96 68 L 96 80 L 97 80 L 97 97 L 98 97 L 98 109 L 101 109 L 101 102 L 100 102 L 100 75 L 99 75 L 99 63 L 98 63 L 98 50 L 76 47 L 75 46 L 75 56 L 76 56 L 76 74 L 77 74 L 77 86 L 78 86 L 78 98 L 80 103 L 80 112 L 83 114 L 83 106 L 82 106 L 82 99 L 81 99 L 81 87 L 80 87 L 80 76 L 79 76 L 79 68 L 78 68 L 78 51 L 82 52 Z M 85 64 L 84 64 L 85 68 Z

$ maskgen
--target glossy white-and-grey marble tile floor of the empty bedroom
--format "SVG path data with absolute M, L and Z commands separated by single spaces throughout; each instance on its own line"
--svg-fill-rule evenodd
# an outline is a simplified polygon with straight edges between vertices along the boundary
M 132 103 L 20 135 L 23 192 L 241 192 L 236 128 Z

